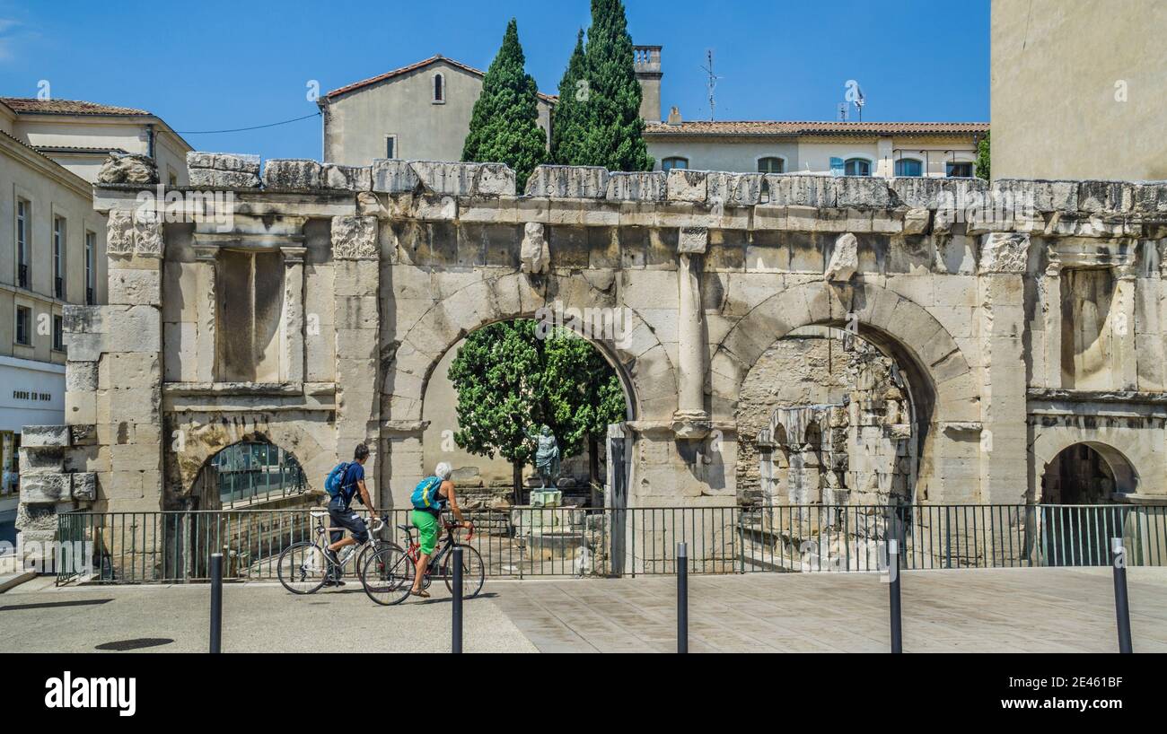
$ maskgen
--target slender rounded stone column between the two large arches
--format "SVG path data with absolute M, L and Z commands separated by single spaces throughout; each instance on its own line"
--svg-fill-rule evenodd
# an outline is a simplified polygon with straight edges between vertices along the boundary
M 704 226 L 680 230 L 677 285 L 677 412 L 672 428 L 680 439 L 701 439 L 710 432 L 705 411 L 706 344 L 705 314 L 701 309 L 701 257 L 708 247 L 710 232 Z

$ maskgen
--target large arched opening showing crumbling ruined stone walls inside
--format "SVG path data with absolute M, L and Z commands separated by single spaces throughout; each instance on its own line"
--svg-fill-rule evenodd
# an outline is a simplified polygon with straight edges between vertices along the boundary
M 868 333 L 869 334 L 869 333 Z M 795 329 L 742 382 L 739 499 L 764 504 L 887 505 L 917 501 L 931 398 L 908 361 L 838 326 Z M 760 461 L 770 461 L 762 467 Z M 762 487 L 759 477 L 770 477 Z

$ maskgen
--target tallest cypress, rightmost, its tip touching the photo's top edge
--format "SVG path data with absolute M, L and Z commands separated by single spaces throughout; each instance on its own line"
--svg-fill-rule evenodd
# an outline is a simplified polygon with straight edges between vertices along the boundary
M 608 170 L 651 170 L 641 119 L 633 37 L 621 0 L 592 0 L 587 32 L 588 130 L 579 165 Z

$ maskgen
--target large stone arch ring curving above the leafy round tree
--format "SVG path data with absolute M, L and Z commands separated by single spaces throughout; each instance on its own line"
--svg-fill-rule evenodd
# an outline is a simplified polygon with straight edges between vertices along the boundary
M 382 394 L 393 424 L 421 420 L 426 386 L 434 369 L 454 344 L 490 323 L 531 319 L 540 308 L 561 303 L 572 308 L 621 309 L 627 327 L 620 338 L 589 338 L 612 363 L 629 399 L 629 418 L 668 420 L 677 407 L 677 376 L 665 343 L 635 309 L 580 275 L 545 275 L 537 289 L 529 277 L 483 278 L 435 302 L 396 341 L 384 372 Z

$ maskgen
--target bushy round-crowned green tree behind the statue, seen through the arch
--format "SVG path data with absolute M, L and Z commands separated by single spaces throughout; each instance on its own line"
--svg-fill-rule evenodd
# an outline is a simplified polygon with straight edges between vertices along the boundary
M 510 461 L 516 502 L 523 466 L 534 457 L 530 426 L 551 426 L 565 459 L 588 448 L 596 481 L 599 441 L 627 412 L 620 378 L 595 347 L 559 329 L 540 338 L 537 327 L 520 319 L 473 331 L 448 373 L 457 391 L 454 441 L 473 454 Z

